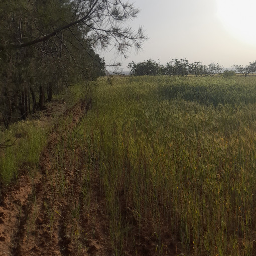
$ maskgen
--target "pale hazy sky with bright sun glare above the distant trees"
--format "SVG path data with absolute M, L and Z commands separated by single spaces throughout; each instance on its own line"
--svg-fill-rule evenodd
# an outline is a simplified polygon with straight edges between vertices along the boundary
M 141 12 L 130 25 L 143 26 L 149 40 L 143 51 L 117 58 L 123 71 L 129 62 L 152 58 L 161 64 L 174 58 L 223 67 L 256 60 L 255 0 L 132 0 Z M 101 53 L 106 64 L 114 52 Z

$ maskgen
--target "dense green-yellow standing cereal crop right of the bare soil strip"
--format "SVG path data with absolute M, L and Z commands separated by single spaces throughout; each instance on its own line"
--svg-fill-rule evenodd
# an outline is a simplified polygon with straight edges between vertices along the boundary
M 99 176 L 116 251 L 136 223 L 159 254 L 170 240 L 185 255 L 255 253 L 254 77 L 102 79 L 92 95 L 75 137 Z

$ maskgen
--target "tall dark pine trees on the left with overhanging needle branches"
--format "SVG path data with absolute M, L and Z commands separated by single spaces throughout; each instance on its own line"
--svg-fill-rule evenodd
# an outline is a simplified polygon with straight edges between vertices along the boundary
M 1 0 L 0 123 L 25 119 L 79 80 L 106 74 L 95 49 L 125 56 L 141 48 L 141 28 L 124 27 L 138 9 L 116 0 Z

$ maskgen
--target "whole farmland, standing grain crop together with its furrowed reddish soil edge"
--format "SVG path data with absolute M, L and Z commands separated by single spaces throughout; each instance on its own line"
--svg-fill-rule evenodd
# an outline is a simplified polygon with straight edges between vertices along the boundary
M 1 155 L 2 184 L 31 186 L 7 250 L 255 255 L 255 77 L 114 77 L 81 88 L 86 98 L 54 132 L 38 130 L 33 167 L 8 176 L 7 164 L 21 168 L 7 161 L 15 149 Z

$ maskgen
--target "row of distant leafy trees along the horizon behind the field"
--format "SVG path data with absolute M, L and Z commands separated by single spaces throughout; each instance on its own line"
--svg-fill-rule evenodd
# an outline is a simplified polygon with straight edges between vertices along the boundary
M 160 64 L 152 59 L 135 63 L 132 61 L 127 66 L 130 69 L 130 74 L 133 76 L 142 75 L 168 75 L 168 76 L 214 76 L 222 72 L 223 67 L 218 63 L 211 63 L 208 66 L 201 62 L 189 63 L 187 59 L 173 59 L 165 65 Z M 232 65 L 232 68 L 244 76 L 256 72 L 256 61 L 250 63 L 248 66 Z M 232 70 L 225 70 L 224 77 L 231 77 L 235 72 Z

